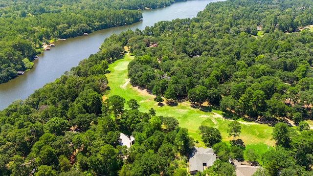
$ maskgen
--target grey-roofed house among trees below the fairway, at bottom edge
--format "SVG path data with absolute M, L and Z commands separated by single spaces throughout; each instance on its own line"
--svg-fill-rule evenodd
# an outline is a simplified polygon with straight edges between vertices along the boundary
M 189 171 L 191 175 L 209 168 L 216 160 L 216 155 L 212 148 L 195 147 L 189 159 Z

